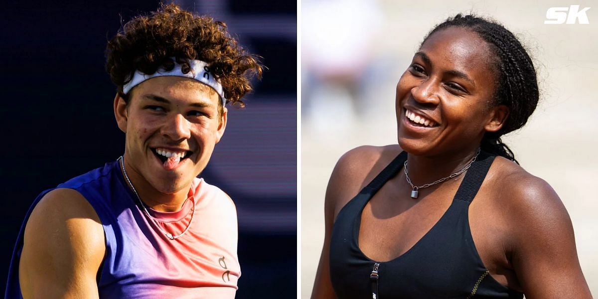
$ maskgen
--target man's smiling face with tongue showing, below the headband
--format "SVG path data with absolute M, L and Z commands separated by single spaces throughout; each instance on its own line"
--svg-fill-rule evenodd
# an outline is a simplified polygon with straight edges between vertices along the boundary
M 227 121 L 220 98 L 203 83 L 184 77 L 155 77 L 115 100 L 118 127 L 126 133 L 127 172 L 156 191 L 188 188 L 205 169 Z

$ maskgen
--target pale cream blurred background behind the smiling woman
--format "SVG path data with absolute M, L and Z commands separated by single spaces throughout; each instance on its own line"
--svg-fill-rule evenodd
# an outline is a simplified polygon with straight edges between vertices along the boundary
M 548 181 L 573 222 L 579 262 L 598 294 L 598 8 L 589 25 L 545 25 L 577 1 L 301 1 L 301 297 L 309 298 L 324 242 L 324 193 L 338 158 L 396 144 L 395 86 L 434 25 L 457 13 L 503 23 L 535 59 L 541 102 L 504 138 L 528 172 Z

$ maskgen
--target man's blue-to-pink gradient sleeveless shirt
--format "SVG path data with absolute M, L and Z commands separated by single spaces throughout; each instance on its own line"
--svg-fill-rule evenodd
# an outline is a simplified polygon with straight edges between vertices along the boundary
M 106 254 L 99 270 L 100 298 L 234 298 L 241 275 L 237 260 L 237 215 L 219 188 L 196 178 L 178 212 L 149 210 L 164 230 L 183 236 L 169 240 L 144 215 L 117 161 L 77 176 L 56 188 L 77 190 L 102 221 Z M 35 199 L 21 227 L 8 273 L 5 298 L 22 298 L 19 260 L 23 233 Z

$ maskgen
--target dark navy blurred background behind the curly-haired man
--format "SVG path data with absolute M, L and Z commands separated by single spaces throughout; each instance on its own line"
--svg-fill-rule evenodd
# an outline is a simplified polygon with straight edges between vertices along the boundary
M 297 3 L 175 1 L 222 20 L 267 66 L 229 108 L 227 131 L 202 176 L 233 198 L 242 276 L 237 298 L 297 294 Z M 112 112 L 106 42 L 158 1 L 6 1 L 0 12 L 0 281 L 26 210 L 47 188 L 115 160 L 124 134 Z

